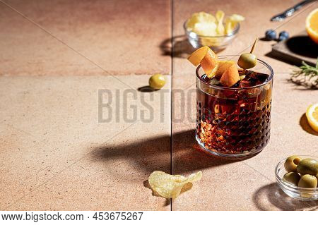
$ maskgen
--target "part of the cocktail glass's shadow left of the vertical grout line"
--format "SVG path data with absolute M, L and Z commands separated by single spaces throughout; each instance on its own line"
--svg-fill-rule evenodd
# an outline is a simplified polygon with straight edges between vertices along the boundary
M 155 170 L 170 173 L 170 146 L 169 135 L 119 145 L 105 143 L 92 150 L 90 157 L 102 162 L 109 174 L 126 181 L 136 177 L 134 174 L 149 175 Z

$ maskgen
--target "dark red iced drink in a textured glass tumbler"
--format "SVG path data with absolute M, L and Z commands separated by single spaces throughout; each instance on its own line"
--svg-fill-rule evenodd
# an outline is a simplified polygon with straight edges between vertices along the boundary
M 257 154 L 267 145 L 273 73 L 264 72 L 245 71 L 245 78 L 236 85 L 222 87 L 218 80 L 200 75 L 198 68 L 196 140 L 204 150 L 240 157 Z

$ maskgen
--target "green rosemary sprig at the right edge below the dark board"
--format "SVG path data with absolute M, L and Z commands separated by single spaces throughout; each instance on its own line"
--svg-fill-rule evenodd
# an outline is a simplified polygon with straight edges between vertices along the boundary
M 291 80 L 300 85 L 318 88 L 318 58 L 316 66 L 310 66 L 302 61 L 302 66 L 291 74 Z

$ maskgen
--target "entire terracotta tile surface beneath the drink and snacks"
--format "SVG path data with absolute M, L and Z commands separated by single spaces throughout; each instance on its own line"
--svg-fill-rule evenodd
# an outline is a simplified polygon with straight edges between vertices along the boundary
M 240 34 L 219 53 L 239 54 L 269 28 L 302 32 L 317 3 L 285 23 L 270 23 L 273 14 L 298 1 L 5 2 L 0 209 L 317 210 L 317 202 L 284 195 L 273 176 L 276 163 L 289 154 L 318 154 L 318 134 L 303 115 L 317 92 L 288 83 L 291 66 L 268 54 L 275 42 L 259 42 L 256 54 L 276 73 L 271 142 L 242 162 L 208 157 L 195 148 L 194 67 L 184 59 L 193 49 L 182 28 L 196 11 L 245 9 Z M 153 73 L 166 75 L 165 88 L 136 91 Z M 105 90 L 100 98 L 98 90 Z M 135 109 L 137 120 L 129 117 Z M 99 121 L 107 113 L 110 121 Z M 172 202 L 151 195 L 148 175 L 171 169 L 202 170 L 204 176 Z

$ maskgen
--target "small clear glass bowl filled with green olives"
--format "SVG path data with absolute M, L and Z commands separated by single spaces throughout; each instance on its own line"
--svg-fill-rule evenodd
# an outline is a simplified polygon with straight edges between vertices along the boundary
M 318 157 L 293 155 L 275 168 L 276 182 L 285 194 L 297 200 L 318 200 Z

